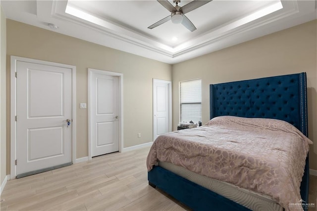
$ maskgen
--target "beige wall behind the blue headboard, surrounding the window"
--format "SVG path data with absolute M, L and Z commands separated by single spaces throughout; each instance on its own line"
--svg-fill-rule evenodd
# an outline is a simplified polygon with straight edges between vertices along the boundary
M 179 81 L 202 78 L 202 122 L 209 121 L 209 84 L 307 72 L 310 168 L 317 170 L 317 21 L 173 65 L 173 129 Z M 315 150 L 314 150 L 315 147 Z M 314 152 L 315 151 L 315 152 Z

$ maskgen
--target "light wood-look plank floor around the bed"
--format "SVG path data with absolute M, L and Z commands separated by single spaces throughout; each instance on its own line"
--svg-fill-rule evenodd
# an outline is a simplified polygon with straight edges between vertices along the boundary
M 9 180 L 1 211 L 189 210 L 148 185 L 149 148 L 112 153 L 52 171 Z M 317 204 L 317 177 L 311 176 L 310 203 Z M 317 208 L 310 209 L 315 211 Z

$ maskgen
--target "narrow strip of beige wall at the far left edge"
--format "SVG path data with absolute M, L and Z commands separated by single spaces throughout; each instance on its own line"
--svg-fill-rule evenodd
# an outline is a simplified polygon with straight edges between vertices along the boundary
M 0 6 L 0 185 L 6 175 L 6 18 Z

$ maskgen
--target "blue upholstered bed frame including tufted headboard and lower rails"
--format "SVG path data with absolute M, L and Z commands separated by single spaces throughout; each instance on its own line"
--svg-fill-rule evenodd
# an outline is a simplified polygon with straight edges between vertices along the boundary
M 293 124 L 308 136 L 306 73 L 210 85 L 210 118 L 223 115 L 274 118 Z M 197 211 L 247 211 L 249 209 L 164 168 L 148 172 L 149 184 Z M 308 202 L 309 161 L 301 183 Z

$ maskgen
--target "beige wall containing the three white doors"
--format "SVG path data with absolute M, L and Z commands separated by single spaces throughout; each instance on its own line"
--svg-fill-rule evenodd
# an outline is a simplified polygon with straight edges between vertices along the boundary
M 7 74 L 11 55 L 76 66 L 76 157 L 88 156 L 87 68 L 123 73 L 124 147 L 153 141 L 152 81 L 171 81 L 171 65 L 7 20 Z M 10 84 L 7 80 L 7 89 Z M 7 107 L 10 99 L 7 97 Z M 10 123 L 7 123 L 8 127 Z M 141 133 L 141 138 L 138 138 Z M 7 136 L 7 154 L 10 137 Z M 9 156 L 7 156 L 9 158 Z M 7 173 L 9 173 L 9 159 Z

